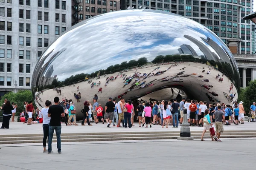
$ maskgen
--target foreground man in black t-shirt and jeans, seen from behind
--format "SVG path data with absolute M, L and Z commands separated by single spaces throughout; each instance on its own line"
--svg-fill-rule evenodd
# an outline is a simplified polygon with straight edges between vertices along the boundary
M 54 105 L 48 110 L 48 117 L 51 117 L 49 125 L 48 153 L 52 152 L 52 137 L 55 130 L 57 136 L 58 153 L 61 153 L 61 117 L 65 116 L 64 108 L 58 104 L 59 98 L 54 98 Z

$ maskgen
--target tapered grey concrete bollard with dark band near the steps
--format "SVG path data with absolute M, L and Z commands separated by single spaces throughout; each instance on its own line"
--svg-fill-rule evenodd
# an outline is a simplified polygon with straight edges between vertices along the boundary
M 177 137 L 177 139 L 178 140 L 194 140 L 194 137 L 191 137 L 186 108 L 183 109 L 183 122 L 180 127 L 180 137 Z

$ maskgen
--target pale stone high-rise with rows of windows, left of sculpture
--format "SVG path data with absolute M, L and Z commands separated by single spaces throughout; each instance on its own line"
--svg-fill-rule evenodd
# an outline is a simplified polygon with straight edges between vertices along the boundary
M 0 0 L 0 96 L 31 88 L 39 57 L 71 17 L 70 0 Z

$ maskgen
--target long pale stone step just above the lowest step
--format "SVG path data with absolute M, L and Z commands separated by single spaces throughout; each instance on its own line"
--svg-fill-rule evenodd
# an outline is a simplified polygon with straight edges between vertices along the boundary
M 202 133 L 191 133 L 191 136 L 200 136 Z M 224 132 L 221 135 L 256 135 L 255 132 Z M 61 139 L 86 139 L 86 138 L 131 138 L 131 137 L 162 137 L 162 136 L 180 136 L 180 133 L 156 133 L 156 134 L 114 134 L 114 135 L 80 135 L 80 136 L 70 136 L 62 135 Z M 209 133 L 205 133 L 205 136 L 209 136 Z M 23 141 L 23 140 L 42 140 L 43 135 L 41 136 L 19 136 L 19 137 L 1 137 L 0 141 Z M 53 139 L 56 139 L 56 136 L 53 136 Z

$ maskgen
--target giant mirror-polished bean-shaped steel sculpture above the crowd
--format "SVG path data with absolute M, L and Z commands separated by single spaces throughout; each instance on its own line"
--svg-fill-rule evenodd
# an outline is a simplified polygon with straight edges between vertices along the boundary
M 44 51 L 32 77 L 39 108 L 59 96 L 73 99 L 78 112 L 95 94 L 103 108 L 109 97 L 134 105 L 182 97 L 231 104 L 239 87 L 236 61 L 212 31 L 186 17 L 147 9 L 76 24 Z

